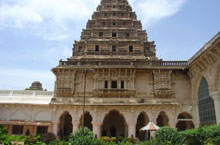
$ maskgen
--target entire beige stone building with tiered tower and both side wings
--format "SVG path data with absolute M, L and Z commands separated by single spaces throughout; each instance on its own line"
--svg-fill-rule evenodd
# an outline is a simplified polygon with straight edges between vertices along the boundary
M 158 59 L 155 46 L 127 0 L 102 0 L 71 57 L 52 69 L 54 92 L 40 82 L 0 90 L 0 124 L 9 134 L 65 136 L 84 118 L 96 137 L 133 138 L 149 121 L 220 124 L 220 33 L 188 61 Z

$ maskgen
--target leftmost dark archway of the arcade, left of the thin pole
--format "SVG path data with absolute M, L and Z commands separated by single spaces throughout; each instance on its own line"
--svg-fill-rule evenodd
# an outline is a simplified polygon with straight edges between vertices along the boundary
M 64 112 L 60 117 L 59 136 L 69 136 L 73 132 L 72 117 L 69 112 Z

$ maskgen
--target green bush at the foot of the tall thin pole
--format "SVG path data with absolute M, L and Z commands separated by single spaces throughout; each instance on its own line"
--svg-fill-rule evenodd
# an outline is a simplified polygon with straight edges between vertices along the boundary
M 74 135 L 70 135 L 69 142 L 72 145 L 94 145 L 94 135 L 90 129 L 84 127 L 84 138 L 82 136 L 82 127 Z

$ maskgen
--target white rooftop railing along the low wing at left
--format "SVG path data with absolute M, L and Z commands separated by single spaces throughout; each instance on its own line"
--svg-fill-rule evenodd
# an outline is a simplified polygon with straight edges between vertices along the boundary
M 0 90 L 1 96 L 53 97 L 54 93 L 52 91 Z

